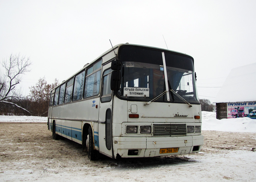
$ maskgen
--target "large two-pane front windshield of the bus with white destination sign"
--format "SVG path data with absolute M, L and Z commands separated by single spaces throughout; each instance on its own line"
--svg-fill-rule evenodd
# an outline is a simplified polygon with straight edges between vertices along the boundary
M 199 104 L 193 58 L 187 55 L 164 52 L 169 90 L 192 104 Z M 123 46 L 119 51 L 122 63 L 121 87 L 118 95 L 130 101 L 150 101 L 165 92 L 165 74 L 162 50 Z M 169 100 L 167 101 L 167 94 Z M 155 102 L 184 103 L 176 94 L 167 92 Z

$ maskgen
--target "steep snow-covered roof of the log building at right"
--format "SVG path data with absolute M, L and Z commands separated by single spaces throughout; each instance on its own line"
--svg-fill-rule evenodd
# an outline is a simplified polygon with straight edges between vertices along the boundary
M 256 101 L 256 63 L 231 69 L 214 103 L 250 101 Z

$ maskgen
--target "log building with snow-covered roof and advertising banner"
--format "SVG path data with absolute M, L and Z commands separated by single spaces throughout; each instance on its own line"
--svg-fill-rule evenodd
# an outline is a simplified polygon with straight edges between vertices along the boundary
M 233 68 L 214 103 L 216 103 L 217 119 L 234 117 L 256 119 L 252 112 L 256 109 L 256 63 Z

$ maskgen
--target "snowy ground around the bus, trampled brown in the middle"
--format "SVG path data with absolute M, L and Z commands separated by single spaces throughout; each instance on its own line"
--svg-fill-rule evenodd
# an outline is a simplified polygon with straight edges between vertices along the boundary
M 47 117 L 0 116 L 0 181 L 254 181 L 256 119 L 202 118 L 199 153 L 95 162 L 80 144 L 53 140 Z

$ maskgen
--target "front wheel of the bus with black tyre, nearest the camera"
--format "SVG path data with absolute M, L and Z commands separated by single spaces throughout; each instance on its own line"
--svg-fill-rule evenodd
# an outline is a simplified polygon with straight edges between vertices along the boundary
M 99 152 L 97 150 L 94 150 L 94 141 L 93 141 L 93 135 L 92 135 L 92 129 L 89 127 L 88 129 L 88 136 L 86 140 L 86 146 L 87 146 L 87 152 L 88 157 L 91 161 L 96 161 L 99 159 Z

